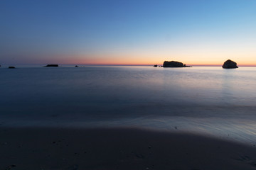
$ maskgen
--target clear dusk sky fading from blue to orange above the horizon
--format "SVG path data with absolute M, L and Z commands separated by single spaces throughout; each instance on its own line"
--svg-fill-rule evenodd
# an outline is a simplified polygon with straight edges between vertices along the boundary
M 255 0 L 1 0 L 0 64 L 256 66 Z

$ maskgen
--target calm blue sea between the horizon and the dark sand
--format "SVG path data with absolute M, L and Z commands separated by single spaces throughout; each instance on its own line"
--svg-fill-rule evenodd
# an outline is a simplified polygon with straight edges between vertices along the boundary
M 0 126 L 132 127 L 256 141 L 256 68 L 0 68 Z

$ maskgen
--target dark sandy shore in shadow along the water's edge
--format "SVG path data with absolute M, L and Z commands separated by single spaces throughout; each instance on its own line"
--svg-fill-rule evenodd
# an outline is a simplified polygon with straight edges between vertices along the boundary
M 0 169 L 256 169 L 256 147 L 139 129 L 0 128 Z

